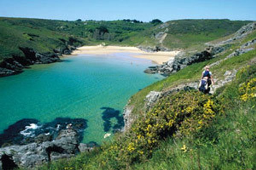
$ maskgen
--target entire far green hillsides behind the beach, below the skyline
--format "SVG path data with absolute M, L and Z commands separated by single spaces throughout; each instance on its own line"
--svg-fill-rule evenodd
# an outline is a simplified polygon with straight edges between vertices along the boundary
M 155 25 L 131 20 L 61 21 L 0 17 L 0 61 L 23 56 L 19 47 L 44 53 L 64 45 L 163 45 L 167 48 L 187 48 L 215 40 L 237 31 L 249 21 L 175 20 Z M 165 31 L 163 44 L 155 35 Z M 71 41 L 69 41 L 71 38 Z M 72 40 L 76 40 L 73 43 Z

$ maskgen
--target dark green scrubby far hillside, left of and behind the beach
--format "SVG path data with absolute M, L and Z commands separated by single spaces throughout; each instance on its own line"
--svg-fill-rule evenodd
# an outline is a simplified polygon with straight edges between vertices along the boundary
M 80 45 L 101 42 L 122 42 L 128 37 L 154 26 L 150 23 L 125 21 L 61 21 L 23 18 L 0 18 L 0 59 L 22 56 L 19 47 L 33 48 L 44 53 L 70 44 L 69 39 Z M 139 43 L 139 40 L 136 41 Z M 132 45 L 132 44 L 130 44 Z

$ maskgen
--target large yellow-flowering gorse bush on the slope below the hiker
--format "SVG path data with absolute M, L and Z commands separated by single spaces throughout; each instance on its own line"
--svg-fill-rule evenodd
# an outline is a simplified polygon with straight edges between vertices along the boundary
M 131 130 L 111 147 L 103 148 L 108 163 L 122 160 L 131 164 L 151 155 L 161 139 L 191 135 L 209 125 L 221 113 L 221 106 L 209 95 L 198 91 L 180 91 L 161 99 L 145 116 L 138 118 Z M 112 161 L 111 161 L 112 160 Z

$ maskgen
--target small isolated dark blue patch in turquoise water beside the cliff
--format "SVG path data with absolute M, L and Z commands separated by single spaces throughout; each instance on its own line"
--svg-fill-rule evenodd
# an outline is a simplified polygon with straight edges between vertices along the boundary
M 102 107 L 100 109 L 105 110 L 102 112 L 102 119 L 104 120 L 103 125 L 105 132 L 108 132 L 112 128 L 112 132 L 115 133 L 116 131 L 124 127 L 124 118 L 122 115 L 120 116 L 120 111 L 108 107 Z M 116 118 L 117 120 L 116 125 L 112 125 L 111 119 L 113 118 Z

